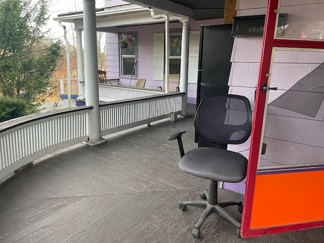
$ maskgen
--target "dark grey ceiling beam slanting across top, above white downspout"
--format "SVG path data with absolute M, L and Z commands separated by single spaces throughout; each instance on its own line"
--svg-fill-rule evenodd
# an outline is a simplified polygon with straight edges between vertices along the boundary
M 153 10 L 165 11 L 179 17 L 193 17 L 193 9 L 168 0 L 127 0 L 128 3 L 140 5 Z

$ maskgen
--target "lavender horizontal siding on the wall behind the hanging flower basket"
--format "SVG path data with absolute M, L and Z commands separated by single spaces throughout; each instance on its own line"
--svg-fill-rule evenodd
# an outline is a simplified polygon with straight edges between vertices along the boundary
M 108 1 L 106 1 L 107 4 Z M 110 1 L 114 2 L 114 1 Z M 110 3 L 112 4 L 112 3 Z M 191 30 L 199 30 L 200 25 L 209 24 L 223 24 L 223 19 L 212 19 L 205 21 L 195 21 L 190 23 Z M 154 80 L 154 33 L 165 32 L 165 24 L 149 24 L 140 26 L 124 26 L 120 28 L 119 32 L 125 33 L 136 33 L 136 44 L 137 44 L 137 75 L 132 77 L 123 77 L 120 75 L 120 49 L 118 47 L 118 36 L 115 33 L 106 34 L 107 43 L 107 76 L 109 78 L 119 78 L 119 84 L 135 85 L 138 78 L 145 78 L 147 89 L 158 89 L 159 86 L 163 87 L 163 80 Z M 181 32 L 182 23 L 170 23 L 170 32 Z M 196 89 L 197 84 L 192 83 L 188 85 L 188 103 L 196 103 Z

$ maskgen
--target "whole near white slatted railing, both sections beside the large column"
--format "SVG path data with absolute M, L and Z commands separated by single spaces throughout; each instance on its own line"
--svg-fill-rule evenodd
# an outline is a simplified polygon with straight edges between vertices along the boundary
M 101 135 L 170 117 L 184 93 L 107 102 L 100 105 Z M 56 150 L 88 140 L 91 106 L 27 115 L 0 123 L 0 183 L 18 168 Z

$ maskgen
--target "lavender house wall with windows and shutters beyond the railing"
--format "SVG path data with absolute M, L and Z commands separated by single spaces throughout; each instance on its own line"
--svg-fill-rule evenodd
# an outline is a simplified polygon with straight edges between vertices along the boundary
M 110 7 L 115 2 L 106 1 Z M 147 10 L 147 13 L 150 13 Z M 178 18 L 180 19 L 180 18 Z M 133 79 L 146 78 L 146 88 L 164 87 L 165 70 L 165 23 L 125 25 L 118 28 L 118 33 L 107 33 L 107 74 L 119 77 L 120 84 L 129 84 L 136 62 Z M 197 70 L 199 56 L 200 25 L 223 24 L 223 18 L 189 21 L 189 66 L 188 66 L 188 102 L 195 103 L 197 89 Z M 180 75 L 181 39 L 183 23 L 170 21 L 170 74 Z M 119 49 L 116 45 L 122 33 L 131 34 L 135 41 L 131 48 Z M 175 89 L 173 89 L 175 91 Z

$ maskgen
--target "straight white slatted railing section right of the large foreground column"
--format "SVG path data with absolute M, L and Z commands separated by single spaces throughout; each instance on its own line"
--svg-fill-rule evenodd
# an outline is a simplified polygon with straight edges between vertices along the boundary
M 100 105 L 101 135 L 170 117 L 171 112 L 181 110 L 183 95 L 184 93 L 164 93 L 102 104 Z

